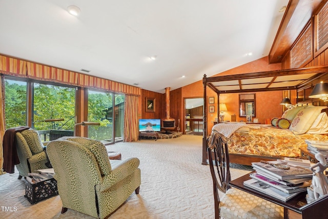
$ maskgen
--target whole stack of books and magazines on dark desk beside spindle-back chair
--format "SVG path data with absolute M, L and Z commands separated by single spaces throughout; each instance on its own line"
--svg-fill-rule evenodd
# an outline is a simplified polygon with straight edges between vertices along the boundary
M 290 200 L 311 185 L 313 172 L 306 167 L 286 161 L 255 162 L 251 179 L 244 186 L 268 194 L 284 202 Z

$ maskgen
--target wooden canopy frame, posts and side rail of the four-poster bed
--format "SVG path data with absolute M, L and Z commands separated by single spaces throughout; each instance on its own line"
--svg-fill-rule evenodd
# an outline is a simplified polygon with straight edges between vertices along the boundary
M 262 71 L 235 75 L 207 77 L 204 74 L 203 82 L 203 138 L 202 138 L 202 164 L 208 164 L 207 157 L 207 87 L 217 93 L 217 109 L 219 109 L 219 96 L 223 93 L 244 93 L 259 91 L 302 90 L 313 88 L 320 81 L 328 81 L 328 66 L 286 69 L 275 71 Z M 219 110 L 217 110 L 219 117 Z M 247 164 L 260 160 L 274 160 L 277 157 L 230 154 L 231 163 Z M 237 162 L 238 161 L 238 162 Z

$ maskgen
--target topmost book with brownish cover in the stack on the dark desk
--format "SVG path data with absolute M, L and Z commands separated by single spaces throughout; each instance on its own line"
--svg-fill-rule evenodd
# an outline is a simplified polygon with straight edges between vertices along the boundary
M 257 170 L 262 170 L 263 172 L 267 172 L 280 180 L 289 180 L 294 178 L 306 178 L 312 176 L 313 172 L 309 168 L 301 167 L 301 166 L 293 166 L 288 164 L 287 162 L 281 161 L 272 161 L 267 163 L 254 162 L 252 163 L 252 167 Z M 272 166 L 272 164 L 281 164 L 289 167 L 288 170 L 282 170 Z

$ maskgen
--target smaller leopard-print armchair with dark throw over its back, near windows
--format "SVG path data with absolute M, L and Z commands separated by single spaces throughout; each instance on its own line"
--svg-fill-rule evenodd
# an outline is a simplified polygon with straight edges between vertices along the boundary
M 28 173 L 38 169 L 46 169 L 47 154 L 39 133 L 34 129 L 27 129 L 16 133 L 16 147 L 19 164 L 16 168 L 18 178 L 27 176 Z

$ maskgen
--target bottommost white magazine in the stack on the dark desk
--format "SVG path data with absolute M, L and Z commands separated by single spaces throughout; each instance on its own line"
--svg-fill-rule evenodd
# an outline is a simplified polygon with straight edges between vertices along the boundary
M 254 178 L 251 178 L 250 180 L 244 181 L 244 186 L 250 187 L 256 191 L 259 191 L 261 193 L 264 193 L 266 195 L 270 195 L 272 197 L 278 198 L 279 200 L 286 202 L 290 200 L 291 198 L 295 197 L 301 192 L 294 192 L 291 194 L 285 193 L 277 188 L 274 188 L 272 186 L 269 186 L 268 184 L 265 184 L 261 181 L 257 181 Z

